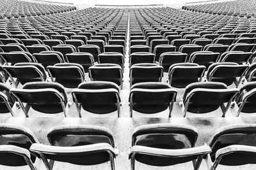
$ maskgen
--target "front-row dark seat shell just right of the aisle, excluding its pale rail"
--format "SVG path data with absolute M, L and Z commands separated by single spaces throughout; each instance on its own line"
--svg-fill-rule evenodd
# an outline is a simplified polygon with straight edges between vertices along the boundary
M 198 136 L 195 127 L 180 124 L 150 124 L 136 127 L 132 133 L 132 146 L 177 150 L 193 148 Z M 186 157 L 161 157 L 161 155 L 135 153 L 135 160 L 151 166 L 172 166 L 194 160 L 198 155 Z

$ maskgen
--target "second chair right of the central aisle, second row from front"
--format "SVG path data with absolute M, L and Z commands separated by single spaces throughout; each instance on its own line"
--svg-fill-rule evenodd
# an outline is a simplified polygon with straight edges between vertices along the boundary
M 219 82 L 191 83 L 186 87 L 180 102 L 182 115 L 186 117 L 187 111 L 202 114 L 221 108 L 222 117 L 225 117 L 225 113 L 238 92 L 238 89 L 228 89 L 227 85 Z M 226 106 L 225 103 L 227 103 Z

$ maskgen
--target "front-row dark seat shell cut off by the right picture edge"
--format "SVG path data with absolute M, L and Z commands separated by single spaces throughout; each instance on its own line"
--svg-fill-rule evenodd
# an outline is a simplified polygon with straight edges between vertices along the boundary
M 216 161 L 216 153 L 221 148 L 227 146 L 255 146 L 255 124 L 237 124 L 237 125 L 227 125 L 217 129 L 209 141 L 209 146 L 212 148 L 211 160 L 212 162 Z M 236 152 L 231 152 L 227 155 L 221 157 L 221 165 L 225 166 L 241 166 L 244 164 L 255 164 L 255 159 L 253 159 L 253 153 L 243 152 L 243 150 Z

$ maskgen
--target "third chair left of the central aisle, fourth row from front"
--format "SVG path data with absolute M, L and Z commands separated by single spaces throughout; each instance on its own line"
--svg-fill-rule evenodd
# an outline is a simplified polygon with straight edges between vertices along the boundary
M 45 68 L 65 61 L 62 53 L 54 51 L 33 53 L 33 57 L 35 57 L 36 61 L 42 64 Z

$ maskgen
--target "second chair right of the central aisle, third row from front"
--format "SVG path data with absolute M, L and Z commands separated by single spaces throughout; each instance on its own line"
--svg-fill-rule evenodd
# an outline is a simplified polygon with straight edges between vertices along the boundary
M 195 63 L 177 63 L 170 66 L 168 81 L 172 87 L 184 88 L 190 83 L 202 81 L 205 66 Z

